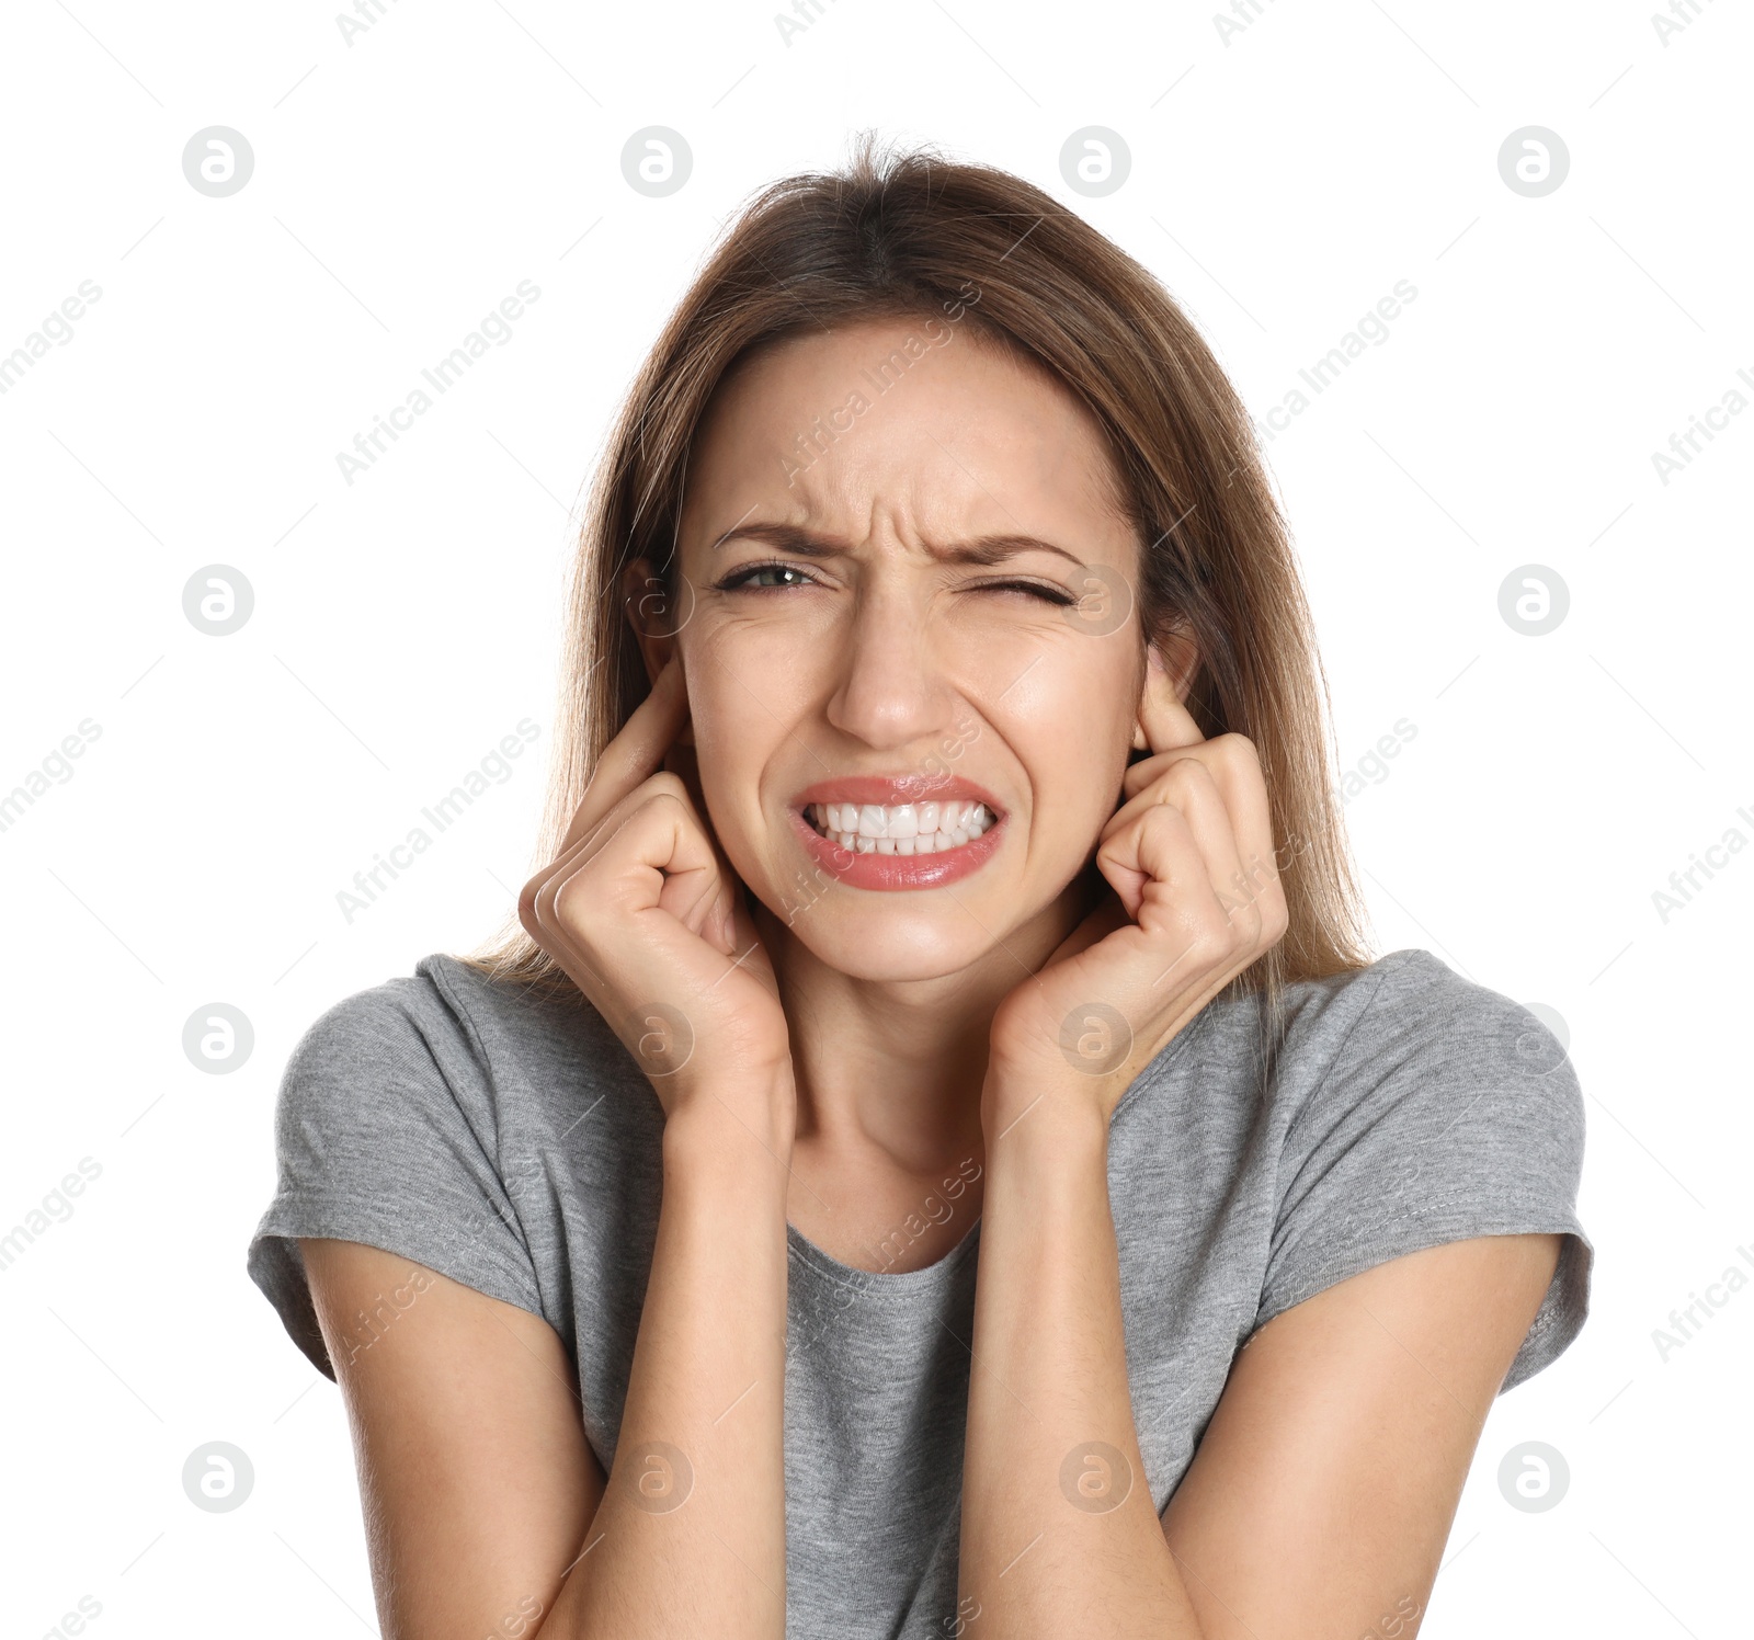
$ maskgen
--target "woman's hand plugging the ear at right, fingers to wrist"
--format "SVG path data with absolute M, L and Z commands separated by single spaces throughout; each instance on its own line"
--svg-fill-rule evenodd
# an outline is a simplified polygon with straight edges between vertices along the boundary
M 1121 1095 L 1230 980 L 1286 933 L 1266 782 L 1242 735 L 1205 740 L 1173 700 L 1142 714 L 1096 866 L 1112 895 L 993 1016 L 984 1110 L 1009 1124 L 1044 1093 Z

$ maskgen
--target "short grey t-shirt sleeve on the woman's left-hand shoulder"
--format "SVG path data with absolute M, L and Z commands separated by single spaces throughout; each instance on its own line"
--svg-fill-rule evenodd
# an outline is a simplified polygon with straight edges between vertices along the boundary
M 293 1049 L 275 1105 L 277 1187 L 251 1279 L 335 1377 L 298 1237 L 363 1242 L 542 1314 L 496 1166 L 491 1084 L 465 1017 L 423 975 L 337 1003 Z

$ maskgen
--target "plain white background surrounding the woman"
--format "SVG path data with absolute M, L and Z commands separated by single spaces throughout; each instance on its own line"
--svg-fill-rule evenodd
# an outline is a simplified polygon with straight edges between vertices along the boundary
M 386 0 L 351 46 L 317 4 L 5 9 L 0 353 L 102 288 L 0 396 L 0 791 L 102 730 L 0 831 L 0 1231 L 102 1168 L 0 1270 L 5 1631 L 81 1596 L 98 1635 L 375 1631 L 339 1394 L 244 1273 L 279 1070 L 509 909 L 612 409 L 738 202 L 875 126 L 1084 212 L 1256 416 L 1417 288 L 1268 458 L 1342 761 L 1417 726 L 1347 809 L 1379 947 L 1563 1017 L 1596 1245 L 1582 1337 L 1491 1415 L 1422 1633 L 1747 1633 L 1754 1293 L 1652 1340 L 1754 1256 L 1754 851 L 1652 902 L 1754 838 L 1754 416 L 1652 465 L 1754 374 L 1747 11 L 1701 0 L 1665 44 L 1621 0 L 1266 0 L 1226 44 L 1201 5 L 823 0 L 786 44 L 770 5 Z M 254 149 L 228 198 L 182 174 L 210 125 Z M 693 149 L 668 198 L 623 181 L 647 125 Z M 1087 125 L 1131 151 L 1105 198 L 1059 172 Z M 1542 198 L 1498 172 L 1526 125 L 1570 151 Z M 337 453 L 521 279 L 512 340 L 346 484 Z M 256 596 L 225 638 L 182 612 L 214 563 Z M 1498 609 L 1529 563 L 1570 589 L 1544 637 Z M 526 716 L 537 751 L 349 924 L 337 891 Z M 181 1045 L 214 1002 L 254 1028 L 230 1075 Z M 254 1466 L 228 1514 L 181 1484 L 212 1440 Z M 1498 1489 L 1524 1440 L 1570 1465 L 1544 1514 Z

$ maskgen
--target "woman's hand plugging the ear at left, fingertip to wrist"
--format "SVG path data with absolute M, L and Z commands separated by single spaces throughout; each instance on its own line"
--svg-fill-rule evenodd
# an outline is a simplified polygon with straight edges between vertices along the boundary
M 524 930 L 621 1037 L 667 1117 L 730 1087 L 791 1098 L 786 1014 L 745 889 L 663 768 L 686 719 L 672 656 L 603 749 L 560 858 L 517 896 Z

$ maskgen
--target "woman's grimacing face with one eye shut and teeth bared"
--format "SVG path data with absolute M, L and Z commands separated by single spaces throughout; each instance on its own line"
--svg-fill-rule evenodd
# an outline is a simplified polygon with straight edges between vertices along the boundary
M 812 332 L 721 384 L 679 528 L 700 786 L 828 966 L 956 973 L 1089 861 L 1166 688 L 1114 493 L 1089 412 L 970 324 Z

